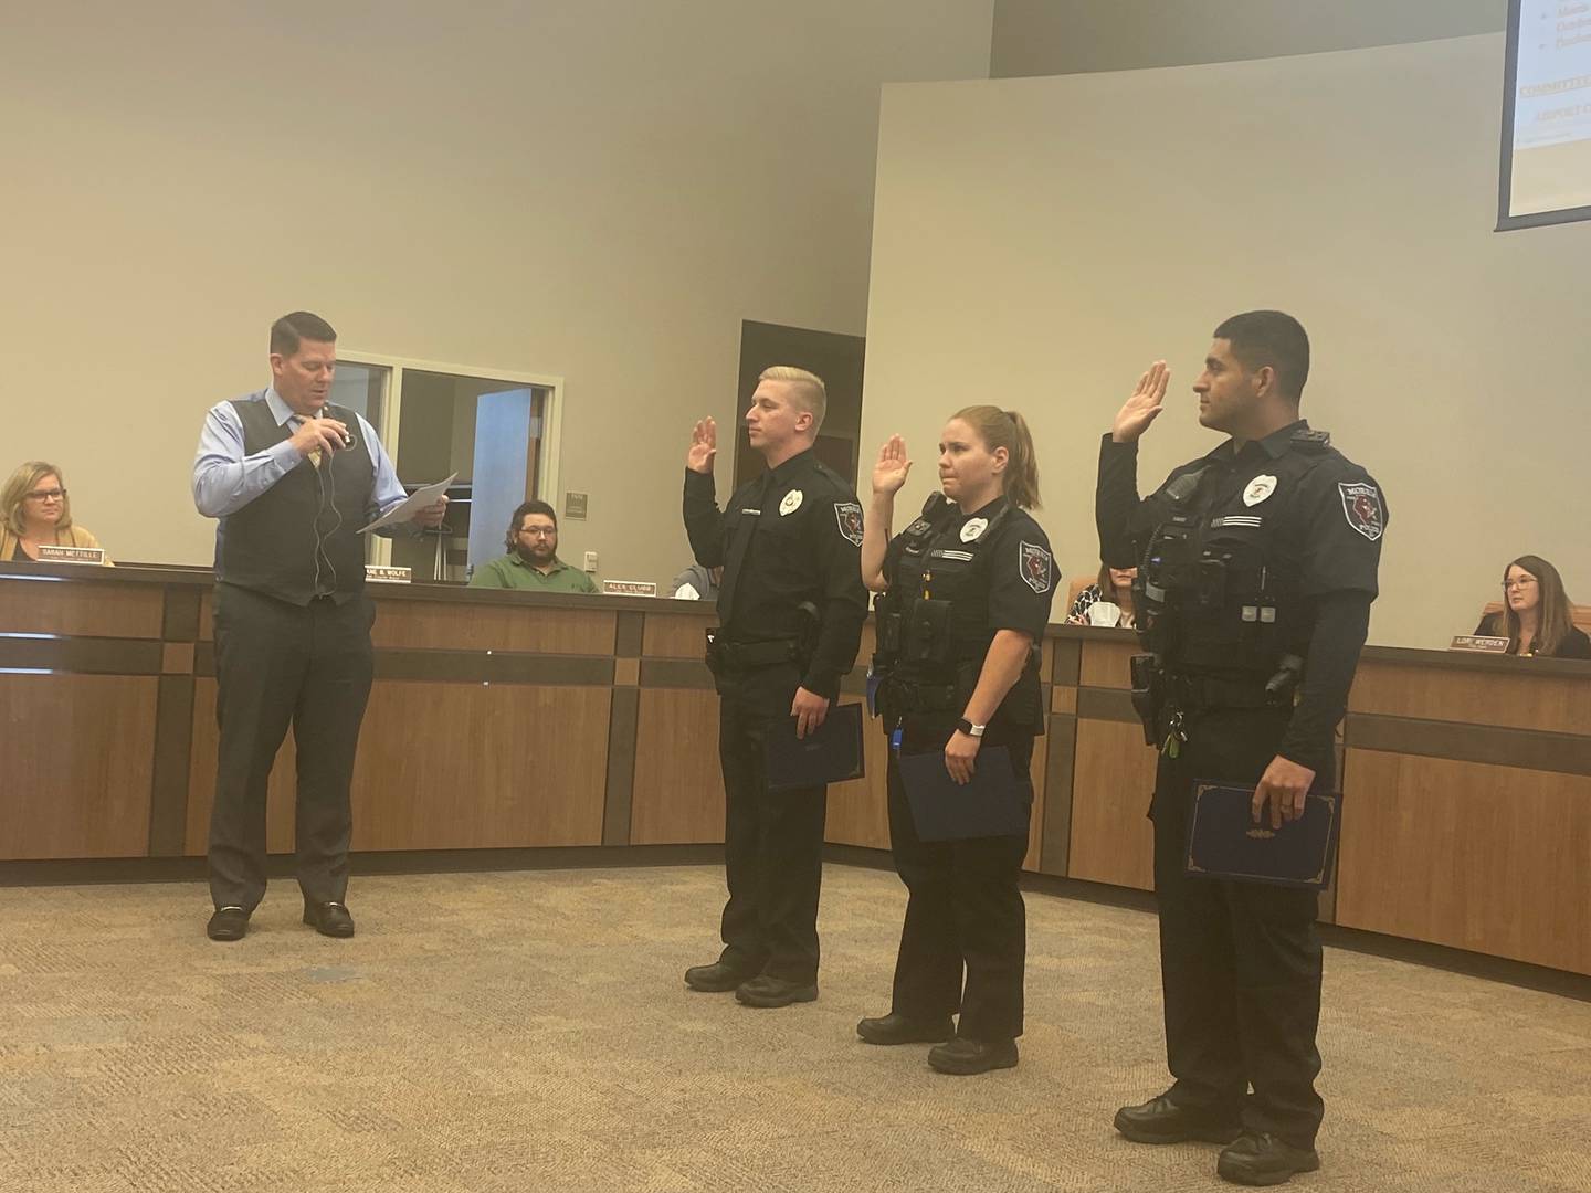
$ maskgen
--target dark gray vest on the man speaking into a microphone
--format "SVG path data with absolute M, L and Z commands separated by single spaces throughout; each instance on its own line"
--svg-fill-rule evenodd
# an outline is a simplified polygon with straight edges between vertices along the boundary
M 243 422 L 243 453 L 264 452 L 293 437 L 277 426 L 264 401 L 232 402 Z M 235 514 L 221 519 L 215 541 L 215 577 L 290 604 L 331 596 L 339 604 L 364 590 L 364 536 L 375 463 L 358 415 L 326 406 L 326 417 L 348 426 L 353 447 L 309 458 Z

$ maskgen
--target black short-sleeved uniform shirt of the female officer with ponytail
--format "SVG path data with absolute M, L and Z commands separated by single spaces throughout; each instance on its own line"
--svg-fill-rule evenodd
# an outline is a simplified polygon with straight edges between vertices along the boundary
M 1033 515 L 998 496 L 971 514 L 947 503 L 937 515 L 929 512 L 926 517 L 932 517 L 939 525 L 939 533 L 928 546 L 929 574 L 936 560 L 943 571 L 945 565 L 959 563 L 956 555 L 967 554 L 966 547 L 977 547 L 971 552 L 974 574 L 969 582 L 956 585 L 953 601 L 950 633 L 956 655 L 982 670 L 988 647 L 1001 630 L 1017 630 L 1042 646 L 1045 627 L 1050 624 L 1050 604 L 1055 600 L 1055 555 L 1048 536 Z M 986 541 L 983 541 L 985 533 Z M 905 533 L 896 534 L 885 552 L 883 579 L 889 589 L 901 582 L 905 541 Z M 926 587 L 931 596 L 936 595 L 932 582 Z M 902 592 L 902 596 L 908 595 Z M 977 684 L 975 673 L 971 676 L 971 684 Z M 966 695 L 972 695 L 971 687 Z M 961 711 L 953 709 L 951 719 L 959 717 Z M 1001 700 L 988 724 L 990 733 L 996 738 L 1007 732 L 1044 732 L 1036 657 L 1029 657 L 1028 666 Z

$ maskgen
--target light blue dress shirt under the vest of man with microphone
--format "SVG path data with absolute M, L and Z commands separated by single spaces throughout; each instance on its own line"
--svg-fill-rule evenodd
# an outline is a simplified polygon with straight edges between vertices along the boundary
M 298 426 L 304 422 L 301 415 L 293 412 L 293 407 L 282 401 L 275 387 L 251 393 L 243 401 L 264 402 L 270 407 L 277 426 L 288 422 Z M 360 420 L 358 434 L 364 436 L 364 447 L 371 453 L 371 463 L 375 464 L 375 480 L 371 485 L 374 517 L 390 511 L 407 493 L 398 482 L 398 469 L 393 468 L 391 457 L 387 455 L 382 441 L 375 437 L 375 428 L 361 414 L 355 414 L 355 418 Z M 272 444 L 264 452 L 245 455 L 242 418 L 237 417 L 232 402 L 216 402 L 205 415 L 204 429 L 199 433 L 199 453 L 194 457 L 194 506 L 210 519 L 235 514 L 298 468 L 302 458 L 286 439 Z M 375 533 L 387 534 L 391 530 L 412 534 L 417 525 L 406 522 L 401 528 L 383 527 Z

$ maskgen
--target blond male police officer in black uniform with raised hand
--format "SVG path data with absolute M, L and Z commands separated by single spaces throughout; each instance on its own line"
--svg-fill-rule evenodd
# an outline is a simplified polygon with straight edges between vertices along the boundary
M 862 507 L 811 453 L 823 382 L 765 369 L 746 412 L 751 447 L 768 471 L 719 512 L 713 492 L 718 429 L 697 423 L 686 458 L 684 520 L 705 568 L 724 568 L 719 628 L 708 665 L 719 701 L 724 824 L 724 951 L 686 970 L 692 989 L 727 991 L 753 1007 L 818 997 L 818 889 L 826 787 L 768 791 L 768 732 L 796 717 L 816 730 L 856 662 L 867 593 L 859 549 Z

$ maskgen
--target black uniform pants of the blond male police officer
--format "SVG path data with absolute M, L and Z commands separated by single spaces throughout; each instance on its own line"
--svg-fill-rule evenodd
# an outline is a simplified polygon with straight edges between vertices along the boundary
M 725 966 L 808 985 L 818 980 L 818 892 L 827 787 L 768 791 L 768 730 L 788 722 L 794 663 L 718 676 L 724 765 Z

